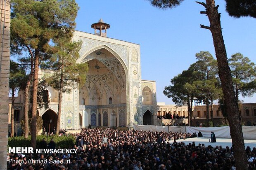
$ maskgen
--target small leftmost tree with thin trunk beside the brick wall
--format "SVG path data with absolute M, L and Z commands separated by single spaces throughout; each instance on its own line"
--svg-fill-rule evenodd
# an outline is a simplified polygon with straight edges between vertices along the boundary
M 12 108 L 11 108 L 11 137 L 14 135 L 14 101 L 15 92 L 19 90 L 22 79 L 26 76 L 26 72 L 19 66 L 18 63 L 10 60 L 10 79 L 9 87 L 12 95 Z

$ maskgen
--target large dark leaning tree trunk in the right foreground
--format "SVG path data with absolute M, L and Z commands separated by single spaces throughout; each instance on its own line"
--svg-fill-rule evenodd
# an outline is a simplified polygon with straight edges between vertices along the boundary
M 237 170 L 247 170 L 247 155 L 244 149 L 244 137 L 241 126 L 241 117 L 235 92 L 232 86 L 232 77 L 228 66 L 228 58 L 220 26 L 220 14 L 214 0 L 206 0 L 206 14 L 210 21 L 210 30 L 213 37 L 216 58 L 218 61 L 221 86 L 227 106 L 230 135 L 234 144 L 234 156 Z

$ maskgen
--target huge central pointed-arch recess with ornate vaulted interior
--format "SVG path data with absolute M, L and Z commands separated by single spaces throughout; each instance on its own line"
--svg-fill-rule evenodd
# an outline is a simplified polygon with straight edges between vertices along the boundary
M 85 107 L 102 108 L 101 111 L 99 110 L 102 116 L 101 126 L 117 126 L 117 123 L 113 123 L 114 119 L 112 120 L 112 118 L 114 116 L 111 115 L 111 111 L 108 110 L 107 115 L 105 114 L 104 110 L 107 110 L 107 108 L 116 107 L 113 105 L 118 105 L 119 107 L 119 104 L 122 104 L 120 107 L 125 107 L 124 104 L 126 104 L 124 111 L 126 112 L 126 110 L 130 109 L 129 95 L 127 95 L 127 92 L 130 91 L 129 71 L 128 65 L 126 65 L 128 56 L 125 58 L 120 56 L 107 45 L 97 45 L 90 48 L 90 50 L 86 50 L 77 61 L 78 63 L 88 63 L 89 71 L 86 75 L 85 88 L 88 90 L 89 103 Z M 95 102 L 91 101 L 92 93 L 96 93 L 96 91 L 92 91 L 92 88 L 96 86 L 101 94 L 100 96 L 97 95 L 97 103 L 95 97 L 93 98 Z M 115 115 L 117 114 L 119 113 Z M 107 120 L 104 119 L 104 116 Z

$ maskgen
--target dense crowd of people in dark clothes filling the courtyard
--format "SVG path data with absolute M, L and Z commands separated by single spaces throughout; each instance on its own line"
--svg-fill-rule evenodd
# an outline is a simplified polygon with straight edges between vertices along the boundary
M 72 134 L 76 154 L 9 154 L 17 160 L 47 160 L 46 163 L 8 163 L 8 170 L 234 170 L 233 148 L 212 147 L 178 139 L 196 133 L 150 132 L 112 128 L 84 128 Z M 174 142 L 170 142 L 174 140 Z M 55 147 L 51 140 L 51 147 Z M 42 144 L 45 142 L 42 142 Z M 43 146 L 43 145 L 42 145 Z M 42 147 L 40 146 L 40 147 Z M 256 168 L 256 148 L 247 147 L 249 168 Z M 50 163 L 49 160 L 55 160 Z M 251 161 L 250 161 L 251 160 Z M 69 161 L 69 162 L 68 162 Z

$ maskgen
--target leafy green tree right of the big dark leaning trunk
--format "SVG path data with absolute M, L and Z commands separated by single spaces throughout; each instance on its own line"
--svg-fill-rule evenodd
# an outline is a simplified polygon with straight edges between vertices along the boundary
M 235 96 L 239 101 L 239 94 L 242 96 L 251 96 L 256 92 L 254 81 L 256 80 L 256 67 L 249 58 L 244 57 L 241 53 L 236 53 L 228 60 Z

